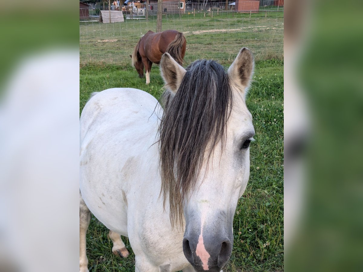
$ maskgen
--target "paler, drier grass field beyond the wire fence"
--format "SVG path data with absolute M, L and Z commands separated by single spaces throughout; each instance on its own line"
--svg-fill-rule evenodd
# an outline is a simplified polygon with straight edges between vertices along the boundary
M 208 14 L 208 13 L 207 13 Z M 198 58 L 213 58 L 227 65 L 236 57 L 241 45 L 248 46 L 256 60 L 283 56 L 284 13 L 219 13 L 213 17 L 204 13 L 168 15 L 163 30 L 177 29 L 187 40 L 185 65 Z M 163 16 L 164 17 L 164 16 Z M 123 65 L 140 37 L 156 30 L 156 20 L 126 20 L 114 24 L 80 23 L 80 62 Z

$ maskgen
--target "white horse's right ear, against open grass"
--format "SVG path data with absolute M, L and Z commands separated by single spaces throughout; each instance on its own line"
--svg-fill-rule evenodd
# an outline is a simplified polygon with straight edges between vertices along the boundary
M 240 88 L 246 97 L 247 90 L 252 82 L 254 60 L 248 48 L 242 48 L 228 69 L 229 80 Z

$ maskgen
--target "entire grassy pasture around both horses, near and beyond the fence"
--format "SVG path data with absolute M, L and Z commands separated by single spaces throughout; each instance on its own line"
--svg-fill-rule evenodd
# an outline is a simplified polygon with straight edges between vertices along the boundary
M 193 19 L 189 15 L 189 19 L 175 17 L 164 19 L 163 22 L 163 29 L 189 31 L 185 33 L 188 45 L 184 66 L 197 58 L 211 58 L 228 68 L 242 46 L 252 49 L 256 56 L 254 82 L 246 101 L 254 118 L 256 141 L 250 147 L 250 179 L 236 209 L 233 251 L 224 272 L 284 270 L 283 18 L 276 14 L 277 12 L 274 13 L 275 17 L 252 15 L 251 18 L 245 14 L 236 14 L 234 18 L 223 15 L 226 16 L 223 20 L 216 16 Z M 135 69 L 131 67 L 129 57 L 135 41 L 141 33 L 146 32 L 147 25 L 153 29 L 156 26 L 154 28 L 152 21 L 129 21 L 131 20 L 127 20 L 125 25 L 81 23 L 80 111 L 91 92 L 112 87 L 139 88 L 156 98 L 160 97 L 163 81 L 159 67 L 152 67 L 151 83 L 146 85 L 145 79 L 138 78 Z M 272 25 L 276 29 L 271 29 Z M 141 30 L 138 29 L 140 26 L 143 26 Z M 238 29 L 247 26 L 270 29 L 262 31 L 261 28 L 251 27 L 243 31 L 192 34 L 200 30 Z M 126 31 L 123 29 L 120 32 L 122 27 L 128 28 L 128 36 L 120 36 L 120 33 Z M 111 36 L 112 33 L 117 36 Z M 97 42 L 102 39 L 118 41 Z M 123 241 L 131 255 L 122 259 L 112 254 L 112 242 L 107 234 L 107 228 L 93 217 L 87 233 L 90 271 L 134 271 L 135 259 L 128 239 L 123 238 Z

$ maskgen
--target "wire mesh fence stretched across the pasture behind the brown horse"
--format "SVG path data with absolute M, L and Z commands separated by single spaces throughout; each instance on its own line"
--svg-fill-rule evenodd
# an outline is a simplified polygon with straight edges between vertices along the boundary
M 276 0 L 250 2 L 257 2 L 258 6 L 241 11 L 236 2 L 229 2 L 227 10 L 224 10 L 225 2 L 164 0 L 162 30 L 176 29 L 184 34 L 187 40 L 185 65 L 199 58 L 212 58 L 228 65 L 244 46 L 253 51 L 256 60 L 282 59 L 284 7 L 274 5 L 279 2 Z M 123 21 L 100 22 L 101 11 L 108 9 L 107 5 L 99 9 L 97 5 L 90 7 L 87 9 L 89 13 L 80 20 L 81 65 L 105 63 L 129 66 L 130 54 L 139 39 L 148 30 L 156 32 L 156 3 L 147 7 L 146 4 L 126 6 L 123 12 L 122 6 L 115 7 L 122 14 Z

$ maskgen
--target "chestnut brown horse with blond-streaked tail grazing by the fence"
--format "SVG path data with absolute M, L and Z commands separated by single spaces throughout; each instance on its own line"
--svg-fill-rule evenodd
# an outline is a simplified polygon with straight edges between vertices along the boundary
M 130 55 L 132 66 L 135 66 L 139 77 L 146 73 L 146 84 L 150 83 L 150 70 L 152 63 L 159 64 L 162 55 L 168 52 L 180 65 L 183 65 L 187 41 L 183 33 L 173 29 L 163 32 L 149 30 L 135 46 L 134 53 Z

